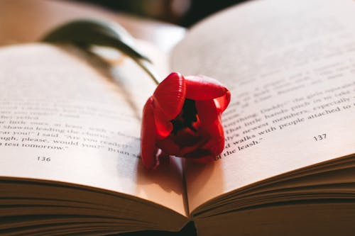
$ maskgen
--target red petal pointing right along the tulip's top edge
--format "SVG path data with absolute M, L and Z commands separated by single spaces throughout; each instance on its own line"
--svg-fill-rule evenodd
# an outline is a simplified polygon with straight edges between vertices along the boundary
M 216 79 L 203 75 L 185 77 L 186 98 L 192 100 L 215 99 L 226 94 L 225 86 Z

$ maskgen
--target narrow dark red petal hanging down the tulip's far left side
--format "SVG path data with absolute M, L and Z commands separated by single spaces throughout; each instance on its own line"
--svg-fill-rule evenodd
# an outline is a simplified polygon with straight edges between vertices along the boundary
M 153 99 L 149 98 L 143 108 L 141 128 L 141 158 L 146 169 L 153 169 L 156 164 L 157 148 L 155 147 L 155 123 L 153 115 Z

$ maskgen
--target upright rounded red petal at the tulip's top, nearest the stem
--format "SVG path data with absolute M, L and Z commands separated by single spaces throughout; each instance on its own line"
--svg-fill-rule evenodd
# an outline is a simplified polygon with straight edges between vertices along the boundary
M 155 104 L 168 120 L 173 120 L 182 109 L 185 101 L 186 84 L 181 74 L 171 73 L 155 89 Z

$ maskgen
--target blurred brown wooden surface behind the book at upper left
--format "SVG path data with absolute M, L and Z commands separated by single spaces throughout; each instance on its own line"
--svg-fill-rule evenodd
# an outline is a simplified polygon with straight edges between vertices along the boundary
M 33 42 L 50 28 L 75 18 L 116 21 L 134 37 L 148 40 L 165 51 L 170 50 L 185 34 L 185 29 L 179 26 L 88 4 L 54 0 L 1 0 L 0 45 Z

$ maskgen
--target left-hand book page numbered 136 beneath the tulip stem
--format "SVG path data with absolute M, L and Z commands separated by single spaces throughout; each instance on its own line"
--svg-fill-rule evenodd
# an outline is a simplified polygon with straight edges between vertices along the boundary
M 185 215 L 180 162 L 146 172 L 139 159 L 155 84 L 121 55 L 111 71 L 86 56 L 45 44 L 1 48 L 0 176 L 107 189 Z

